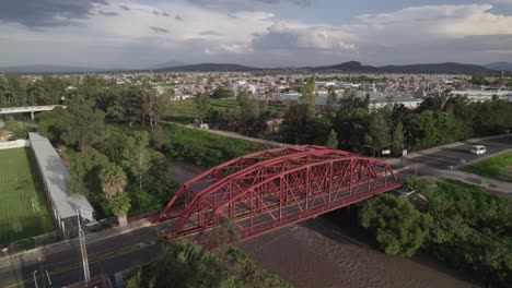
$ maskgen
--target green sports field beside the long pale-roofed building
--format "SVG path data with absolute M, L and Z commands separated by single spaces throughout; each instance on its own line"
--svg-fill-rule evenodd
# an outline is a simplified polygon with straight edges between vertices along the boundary
M 30 148 L 0 151 L 0 245 L 54 230 Z

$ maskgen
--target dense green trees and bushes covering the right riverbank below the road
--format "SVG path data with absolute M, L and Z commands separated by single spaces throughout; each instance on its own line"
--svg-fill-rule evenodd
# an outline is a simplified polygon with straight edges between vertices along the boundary
M 360 223 L 382 250 L 411 255 L 419 249 L 487 287 L 510 287 L 512 200 L 455 181 L 408 179 L 406 187 L 427 199 L 417 204 L 421 212 L 393 195 L 361 205 Z

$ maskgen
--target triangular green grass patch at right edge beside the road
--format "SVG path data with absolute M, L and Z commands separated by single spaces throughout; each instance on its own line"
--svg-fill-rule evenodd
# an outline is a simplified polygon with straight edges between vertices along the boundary
M 512 182 L 512 152 L 462 168 L 463 171 Z

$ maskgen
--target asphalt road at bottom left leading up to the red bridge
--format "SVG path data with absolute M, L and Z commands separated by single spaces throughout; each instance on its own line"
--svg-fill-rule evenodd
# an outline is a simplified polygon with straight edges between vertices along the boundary
M 112 277 L 116 272 L 153 260 L 161 249 L 158 229 L 163 229 L 163 227 L 144 227 L 97 241 L 94 240 L 93 235 L 89 236 L 88 253 L 91 275 L 94 277 L 106 274 Z M 45 285 L 43 285 L 42 269 L 48 271 L 51 287 L 62 287 L 83 280 L 77 239 L 58 243 L 42 252 L 40 262 L 37 256 L 34 256 L 32 261 L 22 261 L 18 257 L 11 261 L 13 265 L 0 268 L 0 287 L 35 287 L 34 271 L 37 271 L 38 287 L 50 287 L 46 276 Z

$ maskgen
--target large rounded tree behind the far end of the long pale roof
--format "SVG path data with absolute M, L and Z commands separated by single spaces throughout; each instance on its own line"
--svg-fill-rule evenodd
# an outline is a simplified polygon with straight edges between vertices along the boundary
M 77 95 L 67 103 L 62 115 L 62 140 L 77 144 L 80 151 L 105 139 L 105 113 L 93 108 L 94 104 Z

